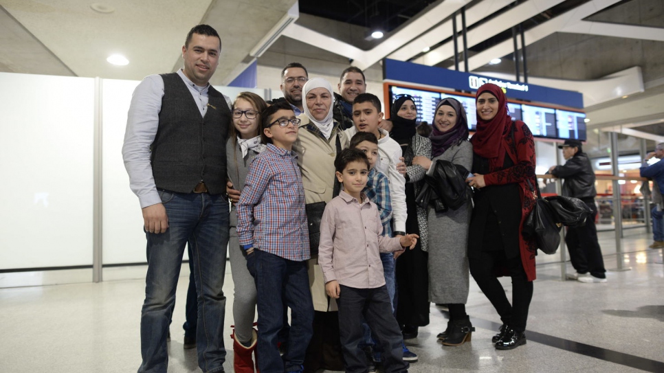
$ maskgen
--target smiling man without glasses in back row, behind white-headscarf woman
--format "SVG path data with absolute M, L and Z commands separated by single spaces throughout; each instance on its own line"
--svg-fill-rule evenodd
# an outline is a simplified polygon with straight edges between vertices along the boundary
M 346 67 L 341 72 L 337 89 L 340 94 L 334 94 L 332 117 L 347 130 L 353 128 L 353 100 L 360 93 L 366 93 L 366 79 L 362 70 L 355 66 Z

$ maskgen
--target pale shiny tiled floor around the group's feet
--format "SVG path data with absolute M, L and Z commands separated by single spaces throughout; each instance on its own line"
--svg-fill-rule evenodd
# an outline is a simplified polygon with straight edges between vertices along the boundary
M 614 232 L 600 242 L 608 269 L 617 267 Z M 606 284 L 561 281 L 560 264 L 542 257 L 531 304 L 526 346 L 498 351 L 491 336 L 499 319 L 471 281 L 467 311 L 476 326 L 472 341 L 443 347 L 436 335 L 447 313 L 432 305 L 431 324 L 406 341 L 419 354 L 410 372 L 664 372 L 664 264 L 662 250 L 645 249 L 644 229 L 625 231 L 621 256 L 630 271 L 610 271 Z M 568 270 L 573 271 L 568 264 Z M 82 272 L 81 272 L 82 271 Z M 140 365 L 139 323 L 144 267 L 104 270 L 104 282 L 0 289 L 0 372 L 135 372 Z M 232 278 L 226 268 L 226 325 L 232 324 Z M 14 282 L 79 282 L 73 275 L 0 275 Z M 170 328 L 168 372 L 200 372 L 195 350 L 182 348 L 186 266 Z M 71 277 L 73 276 L 73 277 Z M 132 278 L 133 280 L 119 280 Z M 503 280 L 509 289 L 509 280 Z M 230 328 L 225 331 L 230 346 Z M 225 364 L 232 372 L 232 353 Z

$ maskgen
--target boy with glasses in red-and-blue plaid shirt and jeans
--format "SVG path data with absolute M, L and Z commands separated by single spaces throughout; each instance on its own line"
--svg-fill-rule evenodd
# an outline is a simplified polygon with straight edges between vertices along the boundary
M 269 106 L 261 118 L 269 144 L 249 168 L 237 205 L 237 234 L 256 283 L 258 368 L 300 372 L 313 334 L 305 190 L 297 155 L 291 151 L 300 120 L 286 102 Z M 277 337 L 284 305 L 291 308 L 292 321 L 282 359 Z

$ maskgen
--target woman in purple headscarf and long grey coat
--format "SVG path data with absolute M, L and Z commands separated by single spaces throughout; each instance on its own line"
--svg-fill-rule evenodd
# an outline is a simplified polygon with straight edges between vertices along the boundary
M 454 98 L 443 98 L 436 106 L 434 126 L 430 135 L 432 159 L 415 157 L 432 176 L 432 164 L 438 159 L 472 169 L 473 147 L 468 141 L 465 109 Z M 463 175 L 465 178 L 467 175 Z M 439 334 L 445 346 L 459 346 L 470 341 L 474 330 L 465 311 L 468 300 L 469 269 L 467 255 L 468 227 L 472 214 L 471 201 L 458 210 L 436 212 L 428 208 L 429 231 L 429 300 L 447 304 L 450 321 Z

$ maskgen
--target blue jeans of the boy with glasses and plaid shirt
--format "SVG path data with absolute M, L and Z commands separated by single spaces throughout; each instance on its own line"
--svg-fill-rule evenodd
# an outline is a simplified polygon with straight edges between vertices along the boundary
M 247 256 L 247 269 L 256 282 L 258 308 L 258 368 L 261 373 L 301 370 L 313 335 L 313 300 L 307 262 L 296 262 L 258 249 Z M 277 348 L 285 306 L 291 308 L 288 348 Z

